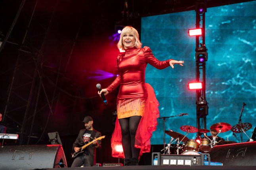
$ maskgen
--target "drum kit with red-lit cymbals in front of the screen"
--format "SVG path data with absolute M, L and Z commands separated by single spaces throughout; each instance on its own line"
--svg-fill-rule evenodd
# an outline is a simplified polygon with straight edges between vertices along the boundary
M 235 144 L 237 142 L 233 141 L 224 141 L 222 138 L 218 137 L 220 133 L 227 132 L 231 130 L 233 133 L 245 133 L 245 131 L 252 128 L 250 123 L 239 123 L 233 127 L 228 123 L 216 123 L 208 129 L 197 129 L 196 127 L 190 125 L 181 126 L 180 129 L 187 134 L 183 135 L 172 130 L 165 130 L 165 133 L 171 136 L 169 144 L 167 144 L 166 153 L 170 154 L 170 147 L 174 149 L 174 153 L 181 155 L 200 155 L 200 153 L 208 153 L 212 147 L 216 145 L 225 145 L 225 144 Z M 198 136 L 199 142 L 195 139 L 187 138 L 189 133 L 199 132 L 204 135 L 203 138 Z M 206 136 L 206 133 L 211 132 L 212 136 Z M 246 133 L 245 133 L 246 134 Z M 248 136 L 246 134 L 246 136 Z M 248 136 L 249 138 L 249 136 Z M 175 139 L 175 140 L 174 140 Z M 251 141 L 251 139 L 250 139 Z M 182 143 L 183 142 L 183 143 Z M 181 144 L 182 143 L 182 144 Z M 172 144 L 174 144 L 172 146 Z M 165 149 L 162 149 L 165 150 Z

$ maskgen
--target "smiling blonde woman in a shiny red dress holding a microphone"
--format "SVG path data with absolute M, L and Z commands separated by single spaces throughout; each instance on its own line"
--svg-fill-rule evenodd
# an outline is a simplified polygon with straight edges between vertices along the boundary
M 150 138 L 157 126 L 159 117 L 158 101 L 153 88 L 145 83 L 147 63 L 157 69 L 184 61 L 168 59 L 157 60 L 149 47 L 141 48 L 138 31 L 132 26 L 123 28 L 117 44 L 120 52 L 117 57 L 118 77 L 107 87 L 98 92 L 107 95 L 120 85 L 117 96 L 117 122 L 111 139 L 112 156 L 125 158 L 125 165 L 138 165 L 139 157 L 150 151 Z M 124 153 L 115 150 L 121 145 Z

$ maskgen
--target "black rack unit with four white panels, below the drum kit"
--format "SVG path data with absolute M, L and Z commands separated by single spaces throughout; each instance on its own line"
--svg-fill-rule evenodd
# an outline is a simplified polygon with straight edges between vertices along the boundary
M 159 152 L 152 153 L 152 165 L 204 165 L 204 159 L 210 162 L 210 155 L 202 153 L 201 155 L 162 155 Z

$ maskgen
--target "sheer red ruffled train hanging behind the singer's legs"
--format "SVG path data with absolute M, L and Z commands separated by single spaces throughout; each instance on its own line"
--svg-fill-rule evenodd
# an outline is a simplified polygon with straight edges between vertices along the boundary
M 145 153 L 150 152 L 150 138 L 153 131 L 157 129 L 157 118 L 159 117 L 159 102 L 155 96 L 153 87 L 145 83 L 148 93 L 148 98 L 145 106 L 145 112 L 135 136 L 135 147 L 140 148 L 139 157 Z M 122 134 L 118 119 L 116 120 L 115 130 L 111 138 L 112 157 L 124 158 L 122 151 Z

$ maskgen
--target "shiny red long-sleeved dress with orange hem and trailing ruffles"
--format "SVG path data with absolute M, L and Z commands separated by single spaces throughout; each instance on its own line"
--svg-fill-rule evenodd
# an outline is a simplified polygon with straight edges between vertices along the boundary
M 157 126 L 159 117 L 159 103 L 155 98 L 153 88 L 145 83 L 145 69 L 147 63 L 157 69 L 170 66 L 169 60 L 157 60 L 149 47 L 140 49 L 126 49 L 117 57 L 118 77 L 107 87 L 111 93 L 120 85 L 117 96 L 117 121 L 111 139 L 112 156 L 124 158 L 122 152 L 116 150 L 117 145 L 122 145 L 121 128 L 118 119 L 141 116 L 136 131 L 135 147 L 141 148 L 140 156 L 150 151 L 150 138 Z

